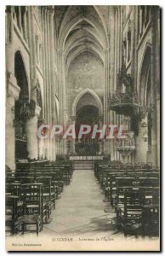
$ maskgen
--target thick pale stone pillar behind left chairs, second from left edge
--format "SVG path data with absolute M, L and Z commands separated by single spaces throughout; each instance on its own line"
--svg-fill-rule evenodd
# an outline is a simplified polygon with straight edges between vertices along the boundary
M 36 106 L 34 115 L 26 122 L 27 133 L 27 152 L 29 159 L 36 159 L 38 157 L 38 144 L 37 144 L 37 118 L 39 117 L 41 108 Z

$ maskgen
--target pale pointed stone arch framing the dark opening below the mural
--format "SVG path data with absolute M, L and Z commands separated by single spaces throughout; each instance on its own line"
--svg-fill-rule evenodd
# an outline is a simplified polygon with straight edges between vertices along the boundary
M 98 103 L 99 108 L 99 114 L 100 116 L 103 115 L 103 104 L 100 100 L 100 97 L 94 92 L 94 90 L 91 90 L 89 88 L 82 90 L 75 98 L 72 108 L 71 108 L 71 114 L 74 116 L 76 115 L 76 109 L 77 109 L 77 102 L 81 99 L 82 96 L 84 96 L 86 93 L 89 93 L 91 96 L 94 97 L 95 101 Z

